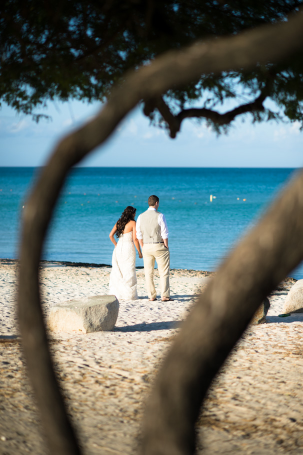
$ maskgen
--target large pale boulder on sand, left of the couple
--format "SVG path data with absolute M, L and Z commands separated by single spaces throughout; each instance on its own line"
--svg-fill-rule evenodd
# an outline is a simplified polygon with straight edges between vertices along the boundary
M 119 302 L 115 295 L 75 298 L 53 306 L 47 323 L 49 329 L 55 332 L 112 330 L 118 311 Z

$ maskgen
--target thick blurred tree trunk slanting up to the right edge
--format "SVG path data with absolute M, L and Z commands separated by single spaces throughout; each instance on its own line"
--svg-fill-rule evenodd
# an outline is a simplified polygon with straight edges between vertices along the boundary
M 194 452 L 194 423 L 211 380 L 263 299 L 302 259 L 300 172 L 222 263 L 183 323 L 148 401 L 144 455 Z

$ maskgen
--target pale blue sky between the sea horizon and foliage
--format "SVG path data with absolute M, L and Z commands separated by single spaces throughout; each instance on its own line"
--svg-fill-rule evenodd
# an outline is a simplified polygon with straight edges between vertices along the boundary
M 100 103 L 49 102 L 44 112 L 52 120 L 35 123 L 6 105 L 0 110 L 0 166 L 45 164 L 63 134 L 94 115 Z M 149 125 L 137 108 L 119 125 L 107 143 L 93 151 L 84 166 L 301 167 L 299 123 L 252 125 L 249 115 L 236 119 L 219 137 L 192 120 L 185 120 L 176 139 Z

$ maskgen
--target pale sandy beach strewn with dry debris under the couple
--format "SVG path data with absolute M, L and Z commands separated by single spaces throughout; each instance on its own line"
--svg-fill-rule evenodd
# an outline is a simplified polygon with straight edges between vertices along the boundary
M 15 261 L 0 261 L 0 452 L 48 453 L 27 378 L 15 316 Z M 43 312 L 74 297 L 106 294 L 110 267 L 45 263 Z M 137 269 L 135 301 L 120 300 L 115 329 L 48 332 L 54 367 L 84 453 L 136 450 L 144 401 L 165 351 L 211 273 L 172 269 L 174 301 L 149 302 Z M 159 280 L 156 273 L 156 286 Z M 266 323 L 250 325 L 213 382 L 197 423 L 197 451 L 303 453 L 303 314 L 280 318 L 295 282 L 270 294 Z

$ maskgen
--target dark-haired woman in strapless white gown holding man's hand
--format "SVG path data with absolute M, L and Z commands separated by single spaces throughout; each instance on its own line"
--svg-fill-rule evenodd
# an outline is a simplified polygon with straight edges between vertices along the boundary
M 134 246 L 139 257 L 142 257 L 135 232 L 135 212 L 136 209 L 128 205 L 109 234 L 109 238 L 114 244 L 109 277 L 109 294 L 127 300 L 138 298 Z M 116 242 L 114 234 L 118 237 L 118 242 Z

